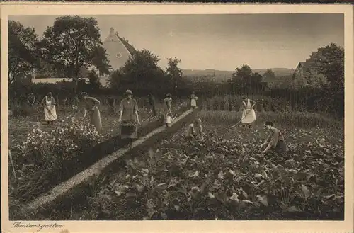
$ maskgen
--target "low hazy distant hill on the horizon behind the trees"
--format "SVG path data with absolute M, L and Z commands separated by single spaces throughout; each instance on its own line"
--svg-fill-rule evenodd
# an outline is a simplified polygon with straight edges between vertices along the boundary
M 270 68 L 275 73 L 275 76 L 290 76 L 295 69 L 287 68 Z M 253 69 L 253 72 L 258 72 L 263 76 L 267 69 Z M 182 69 L 183 76 L 186 78 L 200 77 L 200 76 L 214 76 L 215 81 L 222 81 L 232 78 L 234 71 L 217 70 L 217 69 Z

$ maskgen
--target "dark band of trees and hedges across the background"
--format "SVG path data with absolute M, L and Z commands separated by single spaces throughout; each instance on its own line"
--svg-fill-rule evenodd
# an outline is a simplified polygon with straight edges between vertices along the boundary
M 60 100 L 81 91 L 93 96 L 122 96 L 126 89 L 131 89 L 135 96 L 152 93 L 156 98 L 164 98 L 166 93 L 186 97 L 195 91 L 202 98 L 244 94 L 283 98 L 291 105 L 304 105 L 309 110 L 344 114 L 344 50 L 335 44 L 320 47 L 307 59 L 316 72 L 326 76 L 327 84 L 301 89 L 292 89 L 289 84 L 289 88 L 270 89 L 267 81 L 275 76 L 271 70 L 261 76 L 244 64 L 235 69 L 232 79 L 223 83 L 207 77 L 185 79 L 179 68 L 180 59 L 169 58 L 167 67 L 162 69 L 159 56 L 145 49 L 136 50 L 123 67 L 111 71 L 95 18 L 60 16 L 40 39 L 33 28 L 24 28 L 18 22 L 9 21 L 8 30 L 9 101 L 25 100 L 32 92 L 40 97 L 49 91 L 60 96 Z M 72 81 L 33 84 L 30 74 L 33 69 L 48 77 L 66 77 Z M 108 87 L 103 87 L 98 78 L 103 74 L 109 76 Z M 88 78 L 89 83 L 83 78 Z

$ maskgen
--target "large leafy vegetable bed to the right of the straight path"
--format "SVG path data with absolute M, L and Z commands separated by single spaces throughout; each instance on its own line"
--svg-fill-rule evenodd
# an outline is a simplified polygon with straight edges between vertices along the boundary
M 184 128 L 164 135 L 38 218 L 343 220 L 343 132 L 289 127 L 290 156 L 263 156 L 262 130 L 235 134 L 203 122 L 205 141 L 184 142 Z M 307 135 L 312 142 L 301 140 Z

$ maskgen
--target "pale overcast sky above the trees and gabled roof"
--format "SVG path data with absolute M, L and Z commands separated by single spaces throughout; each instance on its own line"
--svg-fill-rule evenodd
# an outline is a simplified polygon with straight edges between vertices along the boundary
M 58 16 L 9 16 L 42 36 Z M 344 16 L 334 13 L 116 15 L 94 17 L 104 40 L 110 28 L 138 50 L 181 59 L 182 69 L 295 69 L 331 42 L 344 46 Z

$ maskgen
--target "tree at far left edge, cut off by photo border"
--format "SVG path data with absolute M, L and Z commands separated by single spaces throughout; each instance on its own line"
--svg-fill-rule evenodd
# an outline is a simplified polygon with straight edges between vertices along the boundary
M 21 23 L 8 21 L 8 83 L 25 78 L 38 61 L 36 43 L 38 35 L 34 28 L 25 28 Z

